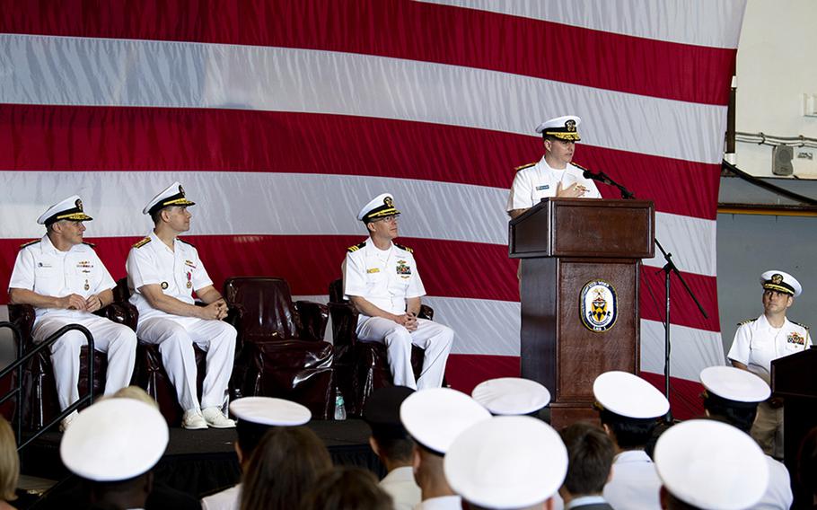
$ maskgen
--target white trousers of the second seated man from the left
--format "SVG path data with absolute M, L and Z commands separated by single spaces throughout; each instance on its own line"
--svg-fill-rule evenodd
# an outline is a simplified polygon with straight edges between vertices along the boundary
M 233 374 L 235 337 L 233 326 L 224 321 L 206 321 L 164 313 L 139 320 L 139 339 L 158 344 L 164 370 L 176 389 L 181 409 L 222 407 Z M 193 344 L 207 353 L 201 405 L 196 394 L 196 353 Z

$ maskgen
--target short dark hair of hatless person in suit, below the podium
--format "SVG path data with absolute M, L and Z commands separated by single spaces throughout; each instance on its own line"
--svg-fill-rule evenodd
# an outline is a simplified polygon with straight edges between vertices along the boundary
M 601 493 L 615 456 L 611 438 L 586 422 L 567 426 L 560 435 L 567 446 L 567 491 L 575 496 Z

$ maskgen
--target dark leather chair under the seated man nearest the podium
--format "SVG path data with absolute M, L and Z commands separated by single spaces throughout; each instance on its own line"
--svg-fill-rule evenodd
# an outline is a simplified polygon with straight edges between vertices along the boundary
M 328 307 L 332 318 L 338 388 L 345 397 L 347 412 L 353 416 L 361 416 L 372 391 L 394 383 L 386 357 L 386 347 L 376 342 L 361 342 L 357 339 L 358 312 L 354 304 L 343 299 L 341 278 L 329 284 Z M 431 321 L 434 318 L 434 309 L 423 304 L 417 316 Z M 411 367 L 414 369 L 415 378 L 418 378 L 422 371 L 425 354 L 423 348 L 411 347 Z

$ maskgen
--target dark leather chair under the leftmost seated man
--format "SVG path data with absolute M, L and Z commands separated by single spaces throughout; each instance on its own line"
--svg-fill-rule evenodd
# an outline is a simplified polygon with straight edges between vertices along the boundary
M 34 307 L 29 304 L 9 304 L 9 321 L 20 328 L 23 354 L 34 347 L 31 330 L 36 317 Z M 101 317 L 125 324 L 136 330 L 136 308 L 130 303 L 111 303 L 96 312 Z M 17 346 L 15 346 L 17 347 Z M 108 355 L 94 351 L 93 356 L 93 391 L 100 396 L 105 391 L 105 374 L 108 370 Z M 79 394 L 88 392 L 88 347 L 80 351 Z M 22 391 L 16 412 L 22 413 L 23 426 L 29 430 L 39 430 L 59 414 L 57 386 L 54 382 L 54 367 L 48 349 L 43 349 L 31 358 L 22 369 Z

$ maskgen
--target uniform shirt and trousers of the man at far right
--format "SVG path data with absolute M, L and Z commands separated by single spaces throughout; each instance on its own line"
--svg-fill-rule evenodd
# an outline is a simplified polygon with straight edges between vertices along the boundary
M 751 373 L 771 384 L 772 361 L 802 352 L 811 345 L 809 331 L 804 326 L 786 319 L 783 327 L 773 328 L 764 314 L 738 325 L 727 357 L 746 365 Z M 769 402 L 760 402 L 751 436 L 765 453 L 783 458 L 783 408 L 773 409 Z

